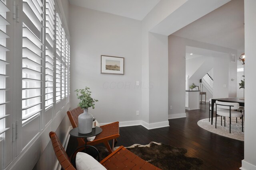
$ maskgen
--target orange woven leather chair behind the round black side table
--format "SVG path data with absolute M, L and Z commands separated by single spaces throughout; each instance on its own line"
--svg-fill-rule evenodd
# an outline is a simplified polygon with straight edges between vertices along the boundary
M 67 111 L 68 118 L 71 122 L 71 125 L 73 128 L 78 127 L 78 116 L 83 113 L 83 110 L 81 107 L 76 107 L 75 109 Z M 99 143 L 103 143 L 106 148 L 108 149 L 109 153 L 112 153 L 114 149 L 114 143 L 117 141 L 116 138 L 118 138 L 119 135 L 119 122 L 109 123 L 107 125 L 100 126 L 102 128 L 102 133 L 99 135 L 96 135 L 95 139 L 93 141 L 88 141 L 87 145 L 97 145 Z M 86 139 L 83 138 L 77 138 L 78 141 L 78 147 L 82 147 L 85 145 Z M 113 140 L 112 148 L 110 148 L 110 145 L 108 141 Z

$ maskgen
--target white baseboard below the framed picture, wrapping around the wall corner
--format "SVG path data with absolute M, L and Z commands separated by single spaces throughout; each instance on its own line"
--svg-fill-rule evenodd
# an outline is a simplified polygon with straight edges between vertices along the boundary
M 100 126 L 106 125 L 106 124 L 108 124 L 108 123 L 100 123 Z M 162 122 L 156 122 L 156 123 L 146 123 L 141 120 L 119 122 L 119 127 L 136 126 L 136 125 L 142 125 L 146 129 L 156 129 L 156 128 L 160 128 L 160 127 L 168 127 L 169 121 L 162 121 Z

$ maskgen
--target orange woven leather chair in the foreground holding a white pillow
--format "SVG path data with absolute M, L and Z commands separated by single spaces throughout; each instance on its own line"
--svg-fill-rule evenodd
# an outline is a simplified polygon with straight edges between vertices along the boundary
M 56 133 L 50 132 L 49 133 L 50 139 L 52 141 L 52 147 L 60 162 L 61 167 L 64 170 L 76 170 L 68 155 L 66 154 L 60 140 L 58 139 Z M 156 166 L 146 162 L 142 158 L 136 156 L 134 153 L 130 152 L 123 146 L 119 147 L 117 150 L 112 152 L 106 158 L 104 158 L 100 164 L 102 164 L 107 170 L 113 169 L 140 169 L 140 170 L 161 170 Z

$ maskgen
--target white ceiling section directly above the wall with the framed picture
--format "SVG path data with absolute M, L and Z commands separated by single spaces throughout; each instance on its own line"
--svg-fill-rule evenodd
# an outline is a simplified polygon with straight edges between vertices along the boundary
M 69 0 L 70 4 L 135 20 L 143 18 L 160 0 Z

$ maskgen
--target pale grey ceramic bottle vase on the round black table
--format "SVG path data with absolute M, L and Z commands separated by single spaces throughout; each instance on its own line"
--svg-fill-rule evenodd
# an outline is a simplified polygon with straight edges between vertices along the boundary
M 88 109 L 84 109 L 84 113 L 78 116 L 78 133 L 92 132 L 92 118 L 93 116 L 88 113 Z

